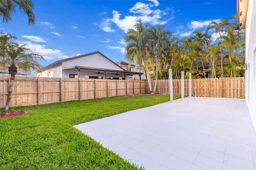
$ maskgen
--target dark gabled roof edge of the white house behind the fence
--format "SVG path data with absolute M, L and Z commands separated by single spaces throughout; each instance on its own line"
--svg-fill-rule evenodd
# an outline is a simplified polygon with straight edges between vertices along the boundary
M 61 59 L 61 60 L 58 60 L 58 61 L 55 61 L 54 63 L 51 63 L 50 65 L 47 65 L 45 66 L 44 68 L 40 69 L 42 71 L 48 69 L 49 67 L 53 66 L 53 65 L 56 65 L 58 63 L 62 63 L 64 61 L 69 61 L 69 60 L 72 60 L 72 59 L 77 59 L 77 58 L 81 58 L 81 57 L 86 57 L 88 55 L 93 55 L 93 54 L 96 54 L 96 53 L 99 53 L 100 55 L 102 55 L 103 57 L 105 57 L 106 59 L 108 59 L 110 62 L 112 62 L 113 64 L 115 64 L 116 66 L 120 67 L 118 64 L 116 64 L 114 61 L 112 61 L 111 59 L 109 59 L 108 57 L 106 57 L 106 55 L 102 54 L 100 51 L 95 51 L 95 52 L 92 52 L 92 53 L 87 53 L 87 54 L 83 54 L 83 55 L 78 55 L 78 56 L 75 56 L 75 57 L 70 57 L 70 58 L 66 58 L 66 59 Z M 124 68 L 120 67 L 122 70 L 125 71 Z M 35 73 L 40 73 L 40 71 L 36 71 Z

